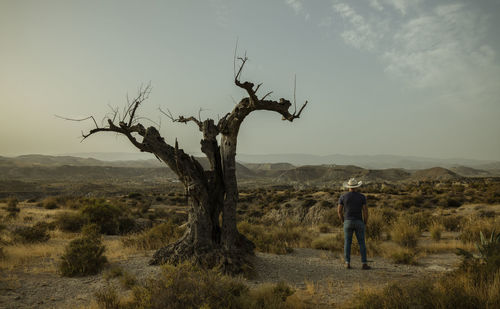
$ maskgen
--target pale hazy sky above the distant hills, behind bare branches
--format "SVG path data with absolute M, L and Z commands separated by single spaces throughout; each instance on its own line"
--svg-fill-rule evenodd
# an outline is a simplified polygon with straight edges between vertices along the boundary
M 500 160 L 500 1 L 0 1 L 0 155 L 133 152 L 91 122 L 151 81 L 141 115 L 217 119 L 245 93 L 310 103 L 300 119 L 255 113 L 245 154 L 395 154 Z M 145 124 L 148 124 L 145 120 Z M 199 153 L 193 125 L 161 119 Z

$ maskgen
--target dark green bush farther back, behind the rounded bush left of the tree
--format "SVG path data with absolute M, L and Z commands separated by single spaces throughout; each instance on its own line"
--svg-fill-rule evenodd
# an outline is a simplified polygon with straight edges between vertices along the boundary
M 81 210 L 82 216 L 88 223 L 97 224 L 101 233 L 108 235 L 116 235 L 120 232 L 119 218 L 122 212 L 118 206 L 103 202 L 88 204 Z

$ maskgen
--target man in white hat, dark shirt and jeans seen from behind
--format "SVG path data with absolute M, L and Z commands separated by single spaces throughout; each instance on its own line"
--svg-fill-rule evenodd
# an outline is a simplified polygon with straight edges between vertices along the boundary
M 366 260 L 366 245 L 365 245 L 365 226 L 368 222 L 368 208 L 366 207 L 366 197 L 357 192 L 363 184 L 362 181 L 356 181 L 351 178 L 344 182 L 344 188 L 348 188 L 349 192 L 344 193 L 339 199 L 337 212 L 340 221 L 344 224 L 344 259 L 345 267 L 351 268 L 351 243 L 352 234 L 356 233 L 356 238 L 359 244 L 361 254 L 362 269 L 370 269 Z

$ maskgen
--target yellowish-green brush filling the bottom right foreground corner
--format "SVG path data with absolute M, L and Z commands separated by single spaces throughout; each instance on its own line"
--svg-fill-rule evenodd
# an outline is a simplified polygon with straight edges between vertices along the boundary
M 349 308 L 499 308 L 500 247 L 497 258 L 480 261 L 469 254 L 462 265 L 440 279 L 394 283 L 362 292 Z

